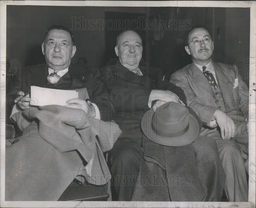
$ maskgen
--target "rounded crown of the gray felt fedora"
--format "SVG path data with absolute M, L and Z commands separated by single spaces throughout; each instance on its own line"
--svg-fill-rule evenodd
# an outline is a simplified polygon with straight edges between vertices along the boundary
M 175 102 L 168 102 L 158 107 L 152 117 L 152 129 L 157 134 L 161 132 L 163 135 L 172 135 L 184 131 L 188 125 L 188 109 Z

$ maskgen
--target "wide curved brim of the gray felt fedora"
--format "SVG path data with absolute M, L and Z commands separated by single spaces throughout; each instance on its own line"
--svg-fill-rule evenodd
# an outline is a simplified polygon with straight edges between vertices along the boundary
M 198 122 L 193 115 L 189 114 L 189 128 L 186 133 L 178 137 L 159 136 L 151 127 L 153 114 L 154 111 L 151 109 L 143 115 L 141 120 L 142 131 L 144 132 L 145 136 L 153 142 L 165 146 L 185 146 L 195 141 L 199 135 Z

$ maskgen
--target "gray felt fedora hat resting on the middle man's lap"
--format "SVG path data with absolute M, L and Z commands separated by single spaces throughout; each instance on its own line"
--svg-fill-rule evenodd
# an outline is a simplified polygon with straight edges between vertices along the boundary
M 168 102 L 147 111 L 141 120 L 141 128 L 147 138 L 165 146 L 184 146 L 199 135 L 199 123 L 187 107 Z

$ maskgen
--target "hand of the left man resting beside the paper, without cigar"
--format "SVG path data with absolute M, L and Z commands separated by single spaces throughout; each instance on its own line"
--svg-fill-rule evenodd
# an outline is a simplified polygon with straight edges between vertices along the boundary
M 85 100 L 74 98 L 71 100 L 68 100 L 65 105 L 70 108 L 77 108 L 77 109 L 82 109 L 89 117 L 95 117 L 95 109 L 92 105 L 89 105 Z

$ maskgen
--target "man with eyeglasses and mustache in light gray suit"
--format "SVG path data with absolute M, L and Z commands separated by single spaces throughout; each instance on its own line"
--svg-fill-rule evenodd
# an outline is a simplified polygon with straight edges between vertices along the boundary
M 234 66 L 212 61 L 207 28 L 191 29 L 185 50 L 193 63 L 174 72 L 170 82 L 184 90 L 188 106 L 200 117 L 200 135 L 217 142 L 228 200 L 248 201 L 248 88 Z

